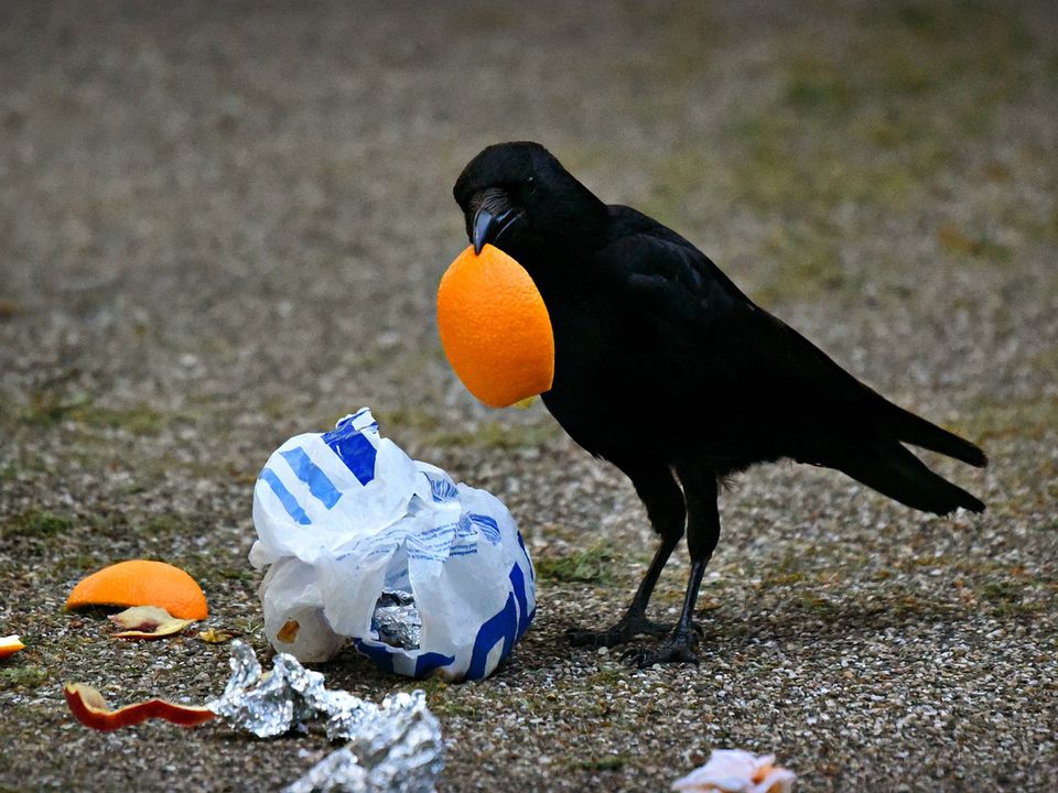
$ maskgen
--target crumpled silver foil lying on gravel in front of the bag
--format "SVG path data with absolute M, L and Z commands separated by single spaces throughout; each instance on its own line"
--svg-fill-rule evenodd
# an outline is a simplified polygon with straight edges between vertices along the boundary
M 349 742 L 288 786 L 289 793 L 430 793 L 444 768 L 441 726 L 425 694 L 390 694 L 381 705 L 345 691 L 327 691 L 320 672 L 280 653 L 261 672 L 253 649 L 231 643 L 231 677 L 206 707 L 259 738 L 326 719 L 327 738 Z

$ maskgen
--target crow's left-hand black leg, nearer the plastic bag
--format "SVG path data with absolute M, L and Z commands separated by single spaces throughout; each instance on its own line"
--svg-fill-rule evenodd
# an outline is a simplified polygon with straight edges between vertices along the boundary
M 661 535 L 661 544 L 658 545 L 654 561 L 650 562 L 647 574 L 639 583 L 639 588 L 636 589 L 625 616 L 605 630 L 571 631 L 569 639 L 575 645 L 613 647 L 624 644 L 644 633 L 663 636 L 671 630 L 671 626 L 647 619 L 647 604 L 650 602 L 654 587 L 658 583 L 666 562 L 669 561 L 672 550 L 683 536 L 683 521 L 687 514 L 683 493 L 667 466 L 651 468 L 649 471 L 625 469 L 625 472 L 631 478 L 639 498 L 647 508 L 650 524 Z

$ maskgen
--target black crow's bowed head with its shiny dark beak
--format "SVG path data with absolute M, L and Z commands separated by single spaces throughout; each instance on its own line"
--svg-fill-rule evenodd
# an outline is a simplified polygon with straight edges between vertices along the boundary
M 539 143 L 488 146 L 463 169 L 452 193 L 478 253 L 486 243 L 515 259 L 579 248 L 607 219 L 606 206 Z

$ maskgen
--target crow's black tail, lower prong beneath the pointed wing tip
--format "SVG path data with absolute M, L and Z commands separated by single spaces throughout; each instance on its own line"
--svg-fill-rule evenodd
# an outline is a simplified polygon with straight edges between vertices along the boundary
M 942 515 L 959 507 L 984 512 L 980 499 L 931 471 L 896 442 L 879 442 L 873 448 L 859 448 L 830 465 L 856 481 L 925 512 Z

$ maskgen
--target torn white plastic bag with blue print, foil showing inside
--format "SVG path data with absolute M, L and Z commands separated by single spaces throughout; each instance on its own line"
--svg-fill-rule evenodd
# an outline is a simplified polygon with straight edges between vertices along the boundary
M 399 674 L 481 680 L 536 613 L 507 508 L 379 436 L 367 408 L 269 457 L 253 490 L 264 631 L 326 661 L 352 641 Z M 410 605 L 409 605 L 410 604 Z

